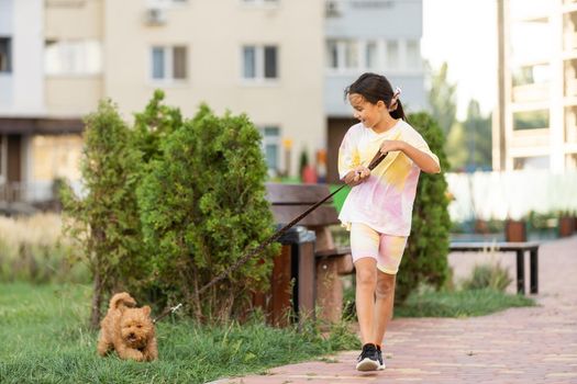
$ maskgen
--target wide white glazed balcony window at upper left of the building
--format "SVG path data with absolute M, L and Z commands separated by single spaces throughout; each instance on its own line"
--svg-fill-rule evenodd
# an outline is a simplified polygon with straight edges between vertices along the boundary
M 102 71 L 99 41 L 46 41 L 44 67 L 47 75 L 97 75 Z

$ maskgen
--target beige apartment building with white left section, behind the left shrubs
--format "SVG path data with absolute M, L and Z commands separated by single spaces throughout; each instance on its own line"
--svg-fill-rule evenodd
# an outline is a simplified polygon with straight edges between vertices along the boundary
M 247 113 L 295 174 L 326 142 L 323 20 L 322 0 L 0 0 L 0 184 L 78 180 L 82 116 L 108 97 L 131 121 L 158 88 L 187 116 Z

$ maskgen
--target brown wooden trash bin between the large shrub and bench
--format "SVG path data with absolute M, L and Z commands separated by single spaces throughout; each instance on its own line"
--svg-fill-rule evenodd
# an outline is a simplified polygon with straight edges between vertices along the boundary
M 289 320 L 314 316 L 315 239 L 314 231 L 302 226 L 290 228 L 278 239 L 282 248 L 274 261 L 267 305 L 273 325 L 286 326 Z

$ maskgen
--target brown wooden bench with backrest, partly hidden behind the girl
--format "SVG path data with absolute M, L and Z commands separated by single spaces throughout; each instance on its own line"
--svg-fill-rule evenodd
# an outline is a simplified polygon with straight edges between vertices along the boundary
M 309 206 L 326 197 L 331 191 L 326 184 L 281 184 L 267 183 L 267 200 L 279 225 L 290 223 Z M 313 308 L 318 306 L 319 316 L 329 321 L 339 321 L 343 307 L 343 284 L 341 276 L 353 271 L 353 258 L 349 248 L 336 248 L 330 230 L 331 225 L 340 224 L 336 208 L 329 201 L 298 225 L 306 226 L 315 234 L 314 275 L 313 279 L 299 283 L 299 294 L 295 300 L 310 303 L 313 296 Z M 306 264 L 310 264 L 303 260 Z M 302 269 L 302 266 L 300 267 Z M 302 271 L 299 271 L 301 273 Z M 310 283 L 307 283 L 309 281 Z M 304 302 L 302 295 L 304 294 Z M 300 298 L 299 298 L 300 297 Z M 310 310 L 311 308 L 304 307 Z

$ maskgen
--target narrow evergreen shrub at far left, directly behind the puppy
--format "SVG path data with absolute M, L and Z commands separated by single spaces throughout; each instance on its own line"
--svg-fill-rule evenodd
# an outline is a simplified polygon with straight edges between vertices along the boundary
M 100 323 L 103 297 L 138 278 L 141 230 L 134 189 L 137 159 L 131 132 L 110 100 L 85 118 L 81 174 L 86 196 L 62 191 L 67 230 L 82 245 L 93 279 L 90 326 Z

